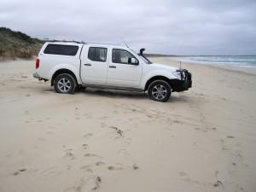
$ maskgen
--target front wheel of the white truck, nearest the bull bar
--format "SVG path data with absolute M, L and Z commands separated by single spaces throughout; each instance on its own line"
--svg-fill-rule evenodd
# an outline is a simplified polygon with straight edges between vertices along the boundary
M 167 102 L 171 96 L 170 84 L 164 80 L 155 80 L 148 86 L 148 96 L 156 102 Z

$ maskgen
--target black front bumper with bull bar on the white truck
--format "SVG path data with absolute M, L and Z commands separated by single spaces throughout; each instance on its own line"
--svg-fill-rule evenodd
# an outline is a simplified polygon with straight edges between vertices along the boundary
M 172 91 L 181 92 L 192 87 L 192 74 L 186 69 L 177 70 L 181 73 L 181 79 L 172 79 Z

